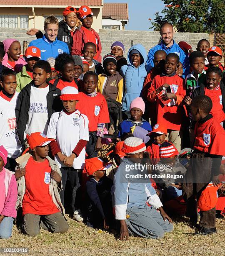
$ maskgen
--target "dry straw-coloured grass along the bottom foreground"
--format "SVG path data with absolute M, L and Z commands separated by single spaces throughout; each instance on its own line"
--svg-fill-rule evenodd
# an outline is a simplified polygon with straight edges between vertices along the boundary
M 159 240 L 130 237 L 119 241 L 114 234 L 86 227 L 68 220 L 66 234 L 52 234 L 41 230 L 36 237 L 27 237 L 14 226 L 13 236 L 0 241 L 2 247 L 28 247 L 29 255 L 224 255 L 225 220 L 217 220 L 218 234 L 194 235 L 188 223 L 175 222 L 174 231 Z M 7 254 L 9 255 L 9 254 Z M 15 254 L 14 254 L 15 255 Z

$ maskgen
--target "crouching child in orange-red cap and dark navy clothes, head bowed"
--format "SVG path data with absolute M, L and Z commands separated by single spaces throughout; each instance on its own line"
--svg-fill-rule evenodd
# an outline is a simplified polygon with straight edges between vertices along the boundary
M 106 177 L 105 171 L 110 163 L 104 163 L 97 157 L 85 161 L 84 171 L 90 180 L 86 183 L 87 190 L 87 225 L 92 228 L 109 227 L 114 222 L 112 213 L 112 180 Z

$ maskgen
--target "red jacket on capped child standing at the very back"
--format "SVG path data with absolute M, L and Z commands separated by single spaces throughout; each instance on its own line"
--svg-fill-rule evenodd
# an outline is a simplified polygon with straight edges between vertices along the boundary
M 90 32 L 93 33 L 97 42 L 96 42 L 96 40 L 95 41 L 93 40 L 92 36 L 91 36 L 91 38 L 88 36 L 87 28 L 84 28 L 83 26 L 81 26 L 80 29 L 77 30 L 76 33 L 72 37 L 71 55 L 81 56 L 82 50 L 84 49 L 84 45 L 87 42 L 92 42 L 95 45 L 97 45 L 97 54 L 94 56 L 94 59 L 101 62 L 102 61 L 102 57 L 101 57 L 102 45 L 101 45 L 100 37 L 94 29 L 91 29 Z

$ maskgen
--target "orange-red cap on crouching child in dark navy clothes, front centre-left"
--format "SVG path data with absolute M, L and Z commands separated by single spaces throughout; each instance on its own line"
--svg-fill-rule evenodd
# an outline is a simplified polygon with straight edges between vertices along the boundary
M 104 163 L 101 159 L 93 157 L 85 160 L 84 172 L 90 176 L 96 171 L 106 170 L 109 166 L 110 163 Z

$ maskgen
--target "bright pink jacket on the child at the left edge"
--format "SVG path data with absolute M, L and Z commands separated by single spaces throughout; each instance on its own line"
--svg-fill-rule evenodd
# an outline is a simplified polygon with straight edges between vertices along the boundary
M 4 167 L 3 167 L 4 168 Z M 1 215 L 16 218 L 17 183 L 14 172 L 5 169 L 5 204 Z

